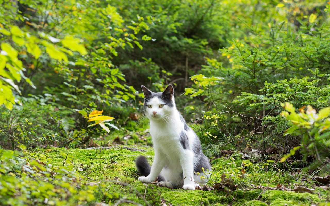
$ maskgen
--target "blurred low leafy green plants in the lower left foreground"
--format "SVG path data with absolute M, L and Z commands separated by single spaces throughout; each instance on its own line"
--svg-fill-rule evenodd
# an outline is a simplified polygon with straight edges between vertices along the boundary
M 0 149 L 0 156 L 3 205 L 77 205 L 95 201 L 93 187 L 81 184 L 81 175 L 72 169 L 71 162 L 52 166 L 47 153 L 41 152 Z

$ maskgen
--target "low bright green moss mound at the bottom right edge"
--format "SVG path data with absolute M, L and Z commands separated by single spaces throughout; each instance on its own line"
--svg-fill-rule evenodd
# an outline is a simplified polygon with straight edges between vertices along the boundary
M 320 198 L 311 193 L 295 193 L 281 190 L 268 190 L 262 194 L 262 199 L 272 206 L 289 205 L 311 205 L 318 203 Z

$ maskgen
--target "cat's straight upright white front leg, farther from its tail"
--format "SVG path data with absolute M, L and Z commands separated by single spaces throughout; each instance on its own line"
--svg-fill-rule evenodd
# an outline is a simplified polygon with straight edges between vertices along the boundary
M 195 190 L 196 184 L 194 181 L 194 167 L 193 167 L 193 153 L 190 150 L 184 150 L 181 156 L 181 165 L 183 172 L 183 186 L 184 190 Z

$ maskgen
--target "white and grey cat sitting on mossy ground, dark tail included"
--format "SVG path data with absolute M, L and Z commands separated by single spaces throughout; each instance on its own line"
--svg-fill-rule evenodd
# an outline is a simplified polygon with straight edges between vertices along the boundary
M 143 175 L 139 181 L 150 183 L 157 178 L 158 186 L 182 187 L 184 190 L 195 190 L 199 184 L 205 185 L 211 166 L 197 135 L 176 109 L 173 86 L 169 85 L 157 93 L 141 87 L 155 156 L 152 166 L 144 156 L 136 159 L 138 172 Z

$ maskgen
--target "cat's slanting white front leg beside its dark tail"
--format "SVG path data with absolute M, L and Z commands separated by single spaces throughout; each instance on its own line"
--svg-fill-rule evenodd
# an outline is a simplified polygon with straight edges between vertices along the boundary
M 155 157 L 149 175 L 147 177 L 145 176 L 139 177 L 139 181 L 144 183 L 154 182 L 156 180 L 156 177 L 160 174 L 160 172 L 164 168 L 165 164 L 166 162 L 164 155 L 161 155 L 160 153 L 155 151 Z

